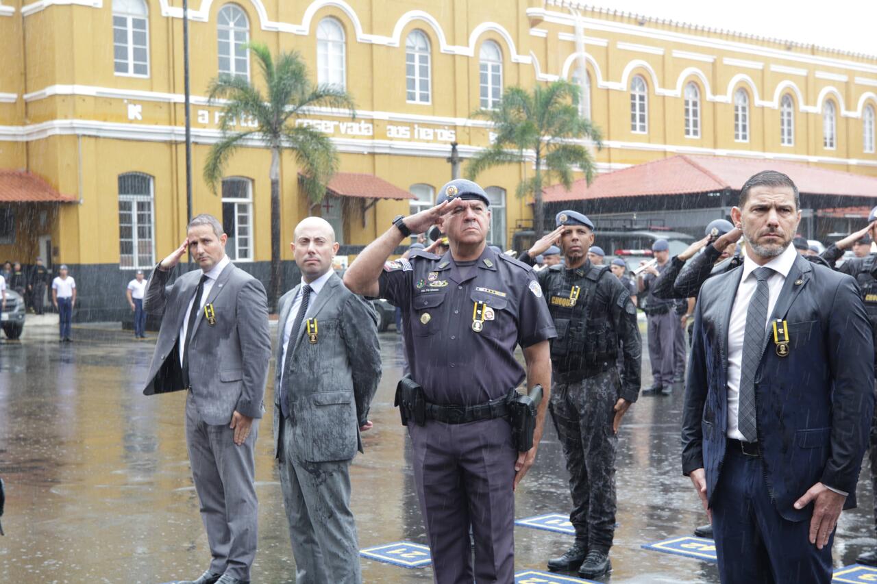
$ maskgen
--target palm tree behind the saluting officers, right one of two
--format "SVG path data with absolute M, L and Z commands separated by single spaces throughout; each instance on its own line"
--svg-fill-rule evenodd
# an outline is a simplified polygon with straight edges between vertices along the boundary
M 536 239 L 541 238 L 545 224 L 542 189 L 555 177 L 569 189 L 574 167 L 581 168 L 591 182 L 594 159 L 588 147 L 576 140 L 591 139 L 597 148 L 602 147 L 599 128 L 579 113 L 579 87 L 566 81 L 537 85 L 532 92 L 510 87 L 503 91 L 496 109 L 473 115 L 493 123 L 496 139 L 469 161 L 469 179 L 490 167 L 527 162 L 530 153 L 535 153 L 536 172 L 517 185 L 517 196 L 533 197 L 533 231 Z

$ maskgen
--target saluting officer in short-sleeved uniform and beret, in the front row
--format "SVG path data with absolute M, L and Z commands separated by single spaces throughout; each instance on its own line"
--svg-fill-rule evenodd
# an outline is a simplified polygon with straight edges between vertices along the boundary
M 422 398 L 421 419 L 408 418 L 407 426 L 440 584 L 514 580 L 513 489 L 535 459 L 551 383 L 548 340 L 555 331 L 542 288 L 528 266 L 486 246 L 489 204 L 474 182 L 448 182 L 435 207 L 396 217 L 344 274 L 353 292 L 403 310 L 411 375 L 400 389 Z M 447 253 L 386 262 L 412 231 L 431 224 L 445 231 Z M 515 359 L 517 345 L 526 369 Z M 518 452 L 508 404 L 525 378 L 525 391 L 541 385 L 545 398 L 534 415 L 532 447 Z

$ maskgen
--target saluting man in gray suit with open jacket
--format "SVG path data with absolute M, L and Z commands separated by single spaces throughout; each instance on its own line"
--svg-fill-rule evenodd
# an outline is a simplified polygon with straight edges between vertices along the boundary
M 144 309 L 161 328 L 143 393 L 188 391 L 186 445 L 213 556 L 194 584 L 239 584 L 250 581 L 256 555 L 253 446 L 271 359 L 267 302 L 260 282 L 225 255 L 216 217 L 199 215 L 187 231 L 146 285 Z M 168 285 L 187 250 L 201 269 Z

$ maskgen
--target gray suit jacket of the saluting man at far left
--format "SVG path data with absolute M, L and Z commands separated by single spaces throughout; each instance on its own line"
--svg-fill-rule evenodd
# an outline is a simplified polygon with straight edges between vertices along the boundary
M 184 389 L 179 344 L 185 339 L 180 338 L 180 327 L 201 275 L 201 270 L 194 270 L 168 286 L 170 271 L 153 269 L 143 307 L 161 317 L 161 328 L 144 395 Z M 208 323 L 204 311 L 198 310 L 189 346 L 189 382 L 198 412 L 214 425 L 228 424 L 235 410 L 247 417 L 262 417 L 271 360 L 265 289 L 229 263 L 210 288 L 205 306 L 209 303 L 216 324 Z

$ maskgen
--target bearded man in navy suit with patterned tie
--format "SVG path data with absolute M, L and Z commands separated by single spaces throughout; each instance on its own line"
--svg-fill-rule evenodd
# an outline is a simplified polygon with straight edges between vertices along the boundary
M 871 326 L 850 276 L 789 245 L 801 204 L 788 176 L 752 176 L 731 218 L 745 258 L 698 297 L 682 470 L 711 513 L 723 582 L 828 584 L 871 423 Z

